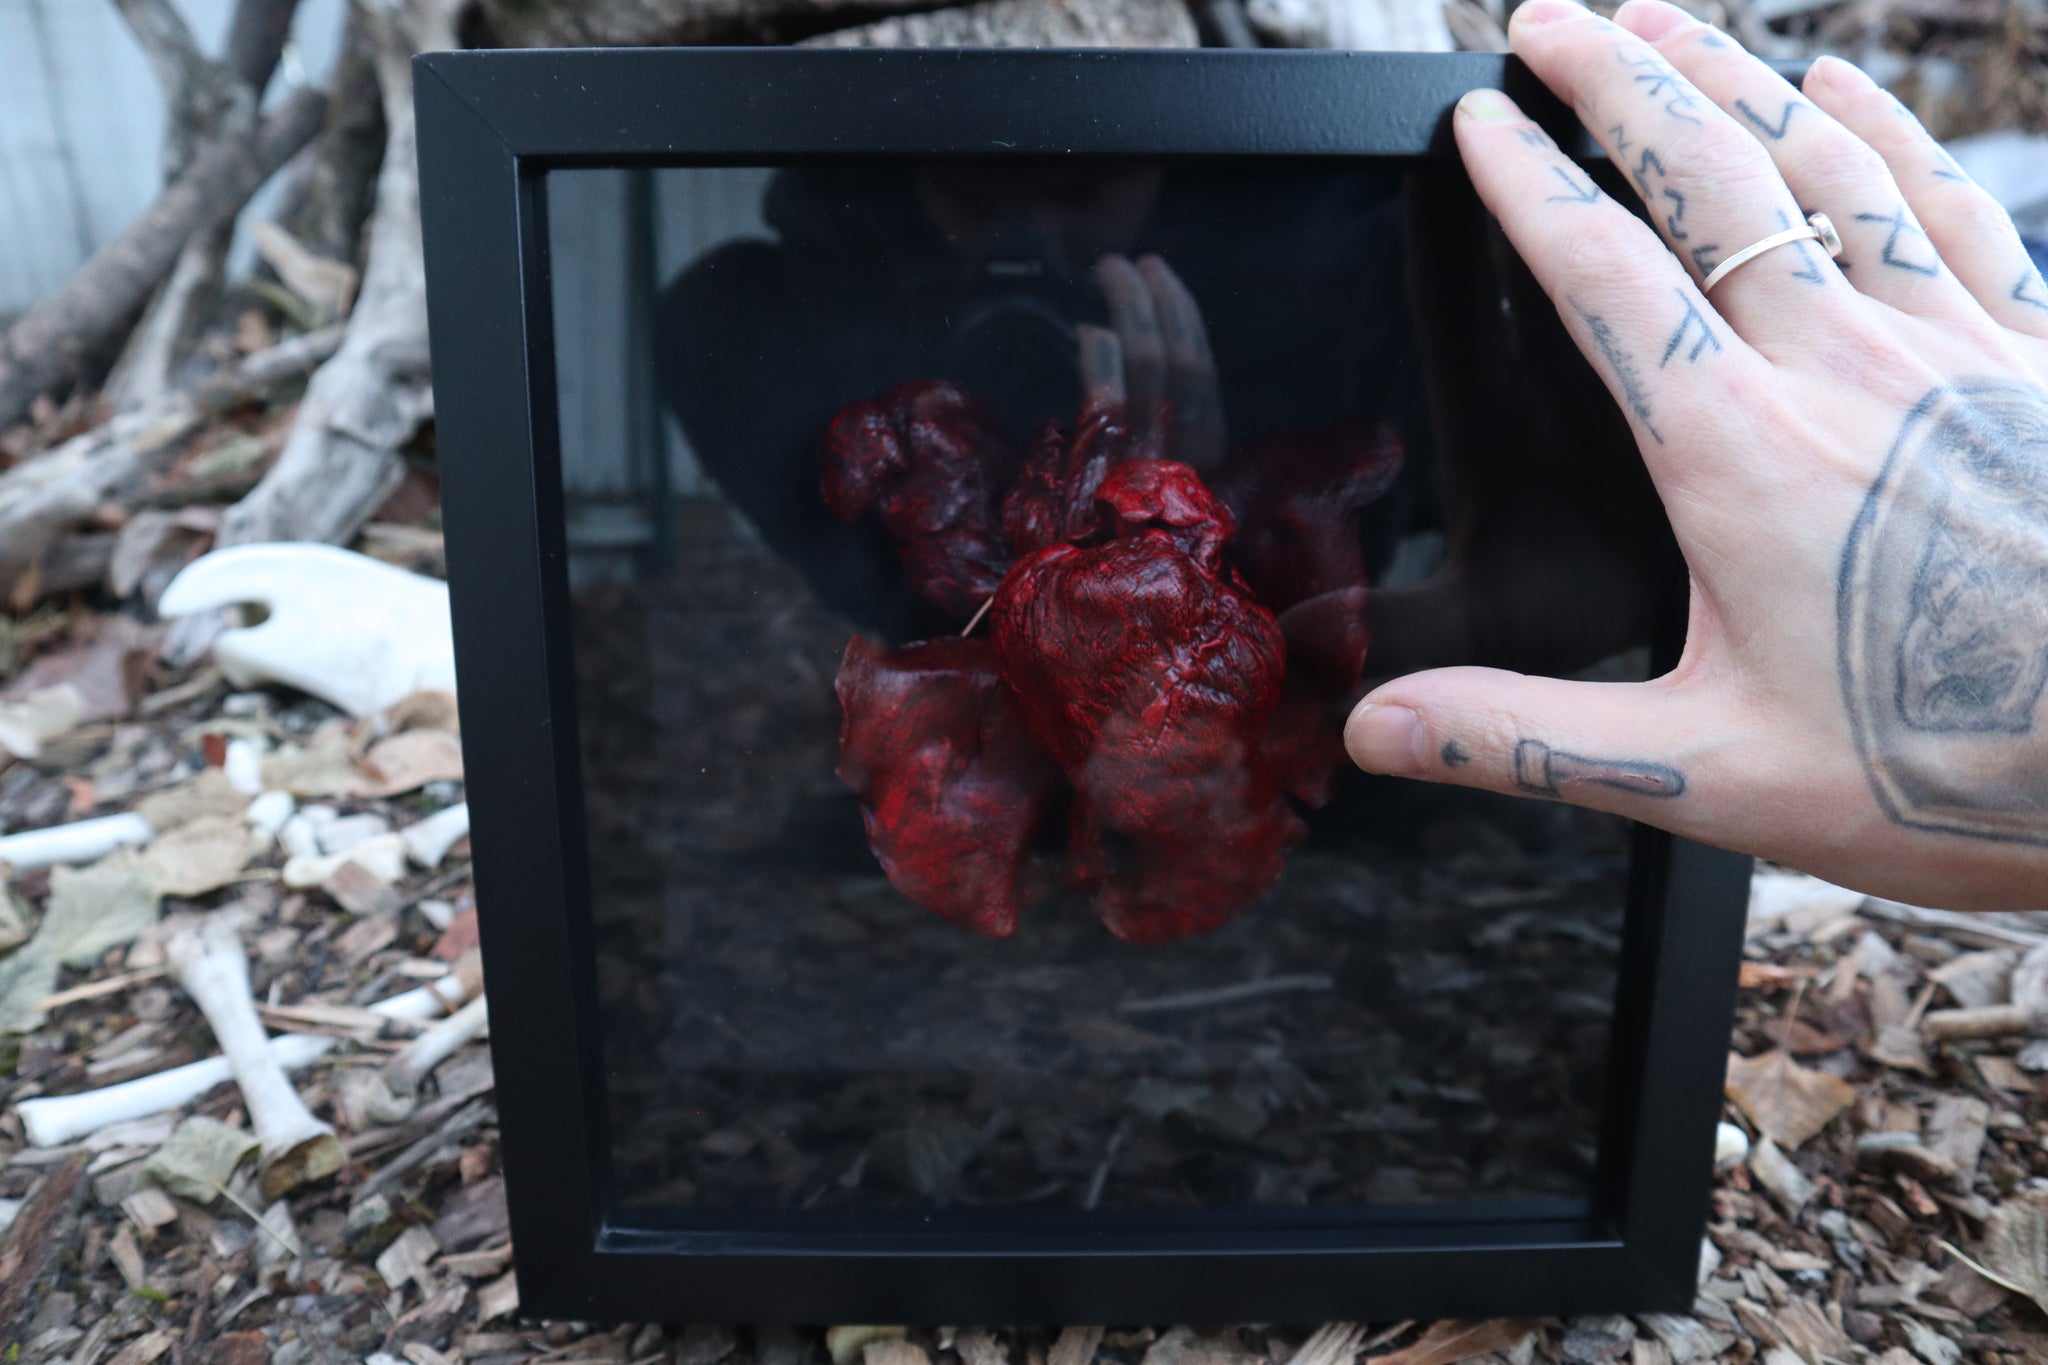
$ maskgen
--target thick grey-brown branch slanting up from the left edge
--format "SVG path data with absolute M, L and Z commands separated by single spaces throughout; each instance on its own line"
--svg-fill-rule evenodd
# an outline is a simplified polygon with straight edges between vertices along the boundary
M 326 104 L 322 92 L 301 90 L 266 119 L 211 141 L 147 213 L 29 309 L 0 338 L 0 426 L 16 422 L 37 395 L 80 379 L 88 356 L 109 350 L 193 233 L 240 213 L 313 137 Z

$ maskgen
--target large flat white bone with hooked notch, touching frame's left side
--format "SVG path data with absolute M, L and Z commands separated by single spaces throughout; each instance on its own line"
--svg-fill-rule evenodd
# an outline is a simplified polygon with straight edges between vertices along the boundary
M 414 692 L 455 692 L 449 585 L 332 544 L 238 544 L 201 555 L 156 610 L 268 610 L 223 630 L 213 661 L 238 688 L 281 681 L 367 716 Z

